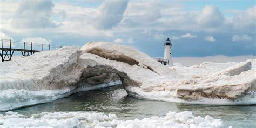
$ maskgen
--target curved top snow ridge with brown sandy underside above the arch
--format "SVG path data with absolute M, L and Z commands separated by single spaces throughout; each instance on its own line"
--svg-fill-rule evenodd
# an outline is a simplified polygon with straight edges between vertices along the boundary
M 166 70 L 166 66 L 158 63 L 152 57 L 129 46 L 117 45 L 110 42 L 89 42 L 81 50 L 110 60 L 124 62 L 129 65 L 138 65 L 141 68 L 152 70 L 158 75 L 175 73 L 172 70 Z

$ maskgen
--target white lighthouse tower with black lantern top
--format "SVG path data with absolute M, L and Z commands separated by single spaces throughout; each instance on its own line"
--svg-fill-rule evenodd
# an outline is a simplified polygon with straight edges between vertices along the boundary
M 172 62 L 172 43 L 169 38 L 166 39 L 166 42 L 164 43 L 164 59 L 168 59 L 169 66 L 173 66 Z

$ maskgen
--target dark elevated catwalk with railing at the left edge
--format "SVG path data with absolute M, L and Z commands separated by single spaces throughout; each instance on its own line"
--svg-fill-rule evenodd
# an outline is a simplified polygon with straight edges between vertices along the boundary
M 45 49 L 46 48 L 46 49 Z M 35 52 L 61 48 L 61 46 L 50 44 L 38 44 L 33 42 L 21 42 L 11 39 L 1 39 L 1 58 L 2 62 L 11 61 L 14 51 L 21 51 L 22 56 L 30 56 Z

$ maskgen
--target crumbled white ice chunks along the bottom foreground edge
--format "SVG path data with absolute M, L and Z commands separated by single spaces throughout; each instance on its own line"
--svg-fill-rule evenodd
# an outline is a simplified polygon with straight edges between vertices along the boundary
M 223 127 L 220 119 L 194 117 L 191 112 L 169 112 L 165 117 L 119 120 L 116 114 L 42 112 L 26 117 L 17 112 L 0 115 L 0 127 Z

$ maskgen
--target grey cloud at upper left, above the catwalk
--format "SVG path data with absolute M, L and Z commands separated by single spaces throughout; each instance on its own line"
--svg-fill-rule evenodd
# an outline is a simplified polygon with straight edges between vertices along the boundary
M 11 25 L 26 29 L 55 27 L 50 19 L 53 6 L 50 0 L 25 0 L 19 4 Z

